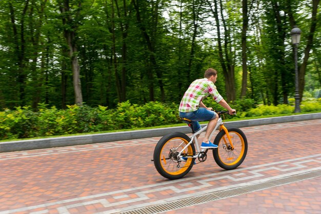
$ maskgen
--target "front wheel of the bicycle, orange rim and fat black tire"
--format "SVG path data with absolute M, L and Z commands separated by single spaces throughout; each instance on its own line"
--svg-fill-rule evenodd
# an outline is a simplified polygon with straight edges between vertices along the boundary
M 248 141 L 244 132 L 238 128 L 229 128 L 228 132 L 234 148 L 231 148 L 225 131 L 221 130 L 214 140 L 218 148 L 213 150 L 213 157 L 218 166 L 230 170 L 244 161 L 248 151 Z

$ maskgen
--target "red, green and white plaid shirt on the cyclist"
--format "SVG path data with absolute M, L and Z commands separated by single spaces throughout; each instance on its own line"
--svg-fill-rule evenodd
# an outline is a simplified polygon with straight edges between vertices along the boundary
M 180 112 L 196 111 L 200 101 L 210 94 L 217 103 L 223 99 L 212 81 L 207 78 L 195 80 L 185 92 L 182 101 L 180 101 L 178 110 Z

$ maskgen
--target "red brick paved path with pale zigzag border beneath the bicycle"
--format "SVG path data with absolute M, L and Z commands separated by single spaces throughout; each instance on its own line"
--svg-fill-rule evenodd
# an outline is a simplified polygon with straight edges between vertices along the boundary
M 159 138 L 0 153 L 0 214 L 320 214 L 321 120 L 242 130 L 249 150 L 239 168 L 209 156 L 174 181 L 150 161 Z

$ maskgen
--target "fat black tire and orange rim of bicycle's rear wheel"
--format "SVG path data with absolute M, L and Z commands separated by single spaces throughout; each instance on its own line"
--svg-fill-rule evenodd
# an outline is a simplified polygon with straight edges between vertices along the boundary
M 167 134 L 158 141 L 154 149 L 153 158 L 155 168 L 159 172 L 159 174 L 161 174 L 163 177 L 167 179 L 174 180 L 184 177 L 192 169 L 195 158 L 189 158 L 187 162 L 180 162 L 180 166 L 182 166 L 181 168 L 175 167 L 177 166 L 177 161 L 175 160 L 169 159 L 166 161 L 166 163 L 164 163 L 164 161 L 162 160 L 162 157 L 165 157 L 165 155 L 165 158 L 169 157 L 168 154 L 170 149 L 168 148 L 170 148 L 172 145 L 174 145 L 173 147 L 177 147 L 180 144 L 179 142 L 184 142 L 184 145 L 186 145 L 190 141 L 191 139 L 182 132 L 174 132 Z M 195 154 L 195 147 L 193 143 L 190 144 L 190 146 L 187 149 L 189 153 L 192 153 L 193 155 Z M 167 167 L 167 165 L 170 165 L 171 167 Z M 169 171 L 167 170 L 167 168 L 173 170 L 177 169 L 177 171 Z

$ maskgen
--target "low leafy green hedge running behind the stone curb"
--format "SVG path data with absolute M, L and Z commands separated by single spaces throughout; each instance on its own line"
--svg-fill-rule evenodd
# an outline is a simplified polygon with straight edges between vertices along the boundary
M 215 106 L 211 101 L 206 105 Z M 238 110 L 236 117 L 292 113 L 290 105 L 258 106 L 251 100 L 231 104 Z M 302 103 L 302 112 L 321 111 L 321 100 Z M 218 107 L 217 109 L 222 109 Z M 48 108 L 39 104 L 37 111 L 31 107 L 16 107 L 14 110 L 0 111 L 0 140 L 45 137 L 63 134 L 99 132 L 129 128 L 153 127 L 181 123 L 177 104 L 149 102 L 138 106 L 129 101 L 119 103 L 117 108 L 87 105 L 68 106 L 66 110 Z

